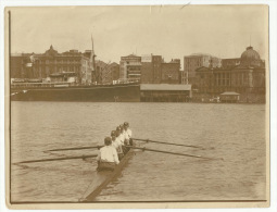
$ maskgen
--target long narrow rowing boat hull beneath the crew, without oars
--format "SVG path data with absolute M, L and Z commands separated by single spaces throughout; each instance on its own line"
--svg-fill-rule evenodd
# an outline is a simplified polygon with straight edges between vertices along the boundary
M 84 202 L 95 201 L 96 197 L 121 173 L 122 170 L 127 164 L 128 160 L 133 157 L 134 150 L 133 148 L 124 155 L 121 160 L 119 164 L 116 165 L 114 171 L 100 171 L 93 173 L 92 182 L 90 184 L 89 189 L 86 191 L 84 197 L 85 199 L 80 199 Z

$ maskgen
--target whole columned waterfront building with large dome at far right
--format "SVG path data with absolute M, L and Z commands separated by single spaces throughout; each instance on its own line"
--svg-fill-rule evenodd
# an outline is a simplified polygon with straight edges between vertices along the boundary
M 239 65 L 196 70 L 196 96 L 214 97 L 226 91 L 240 93 L 240 101 L 265 101 L 265 65 L 260 54 L 248 47 Z

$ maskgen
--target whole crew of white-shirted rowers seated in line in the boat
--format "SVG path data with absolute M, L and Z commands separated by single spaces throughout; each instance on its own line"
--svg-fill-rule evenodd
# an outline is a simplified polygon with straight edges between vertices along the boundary
M 104 145 L 97 157 L 98 171 L 114 170 L 124 154 L 129 151 L 127 146 L 133 146 L 129 124 L 125 122 L 123 125 L 117 126 L 116 130 L 112 130 L 111 137 L 105 137 Z

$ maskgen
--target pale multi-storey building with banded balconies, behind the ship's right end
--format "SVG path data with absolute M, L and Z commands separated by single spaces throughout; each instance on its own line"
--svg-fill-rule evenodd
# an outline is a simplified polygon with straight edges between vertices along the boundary
M 129 54 L 121 58 L 119 79 L 139 80 L 141 77 L 141 57 Z

